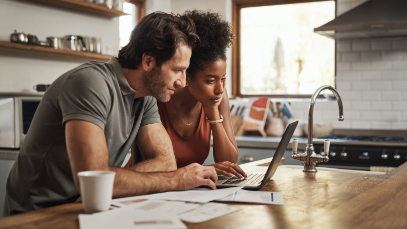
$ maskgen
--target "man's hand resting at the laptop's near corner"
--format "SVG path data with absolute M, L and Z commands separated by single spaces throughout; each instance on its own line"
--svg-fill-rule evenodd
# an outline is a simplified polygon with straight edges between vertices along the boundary
M 210 186 L 216 189 L 217 175 L 212 166 L 202 166 L 198 163 L 192 163 L 175 171 L 178 178 L 178 190 L 189 190 L 201 185 Z

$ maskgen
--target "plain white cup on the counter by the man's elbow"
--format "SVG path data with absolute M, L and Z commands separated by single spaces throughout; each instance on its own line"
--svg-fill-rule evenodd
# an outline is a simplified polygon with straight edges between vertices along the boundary
M 86 213 L 106 211 L 113 195 L 113 171 L 81 171 L 78 173 L 83 208 Z

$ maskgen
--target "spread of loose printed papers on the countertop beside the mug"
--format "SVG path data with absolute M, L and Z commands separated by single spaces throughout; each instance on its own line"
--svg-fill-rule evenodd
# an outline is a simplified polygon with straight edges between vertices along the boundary
M 183 229 L 182 221 L 200 223 L 224 216 L 241 208 L 210 201 L 284 204 L 283 194 L 255 192 L 243 187 L 224 189 L 192 189 L 112 200 L 113 209 L 80 214 L 81 229 L 139 228 Z M 181 221 L 182 220 L 182 221 Z

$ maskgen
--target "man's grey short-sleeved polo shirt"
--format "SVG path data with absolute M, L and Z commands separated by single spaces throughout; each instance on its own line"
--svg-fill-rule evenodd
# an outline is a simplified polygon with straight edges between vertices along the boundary
M 85 120 L 104 130 L 109 166 L 119 167 L 140 126 L 161 123 L 157 101 L 134 99 L 116 58 L 90 61 L 55 80 L 35 112 L 7 180 L 4 215 L 79 198 L 65 144 L 65 123 Z

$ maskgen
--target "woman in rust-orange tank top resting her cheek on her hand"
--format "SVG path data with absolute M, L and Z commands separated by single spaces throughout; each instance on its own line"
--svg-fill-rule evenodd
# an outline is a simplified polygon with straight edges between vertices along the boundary
M 171 138 L 177 167 L 202 164 L 210 151 L 213 136 L 214 166 L 218 175 L 247 177 L 237 166 L 238 151 L 230 121 L 226 85 L 226 50 L 233 44 L 234 34 L 219 13 L 186 11 L 192 18 L 201 47 L 192 52 L 187 69 L 187 86 L 178 88 L 168 103 L 157 101 L 164 128 Z M 223 122 L 220 122 L 221 116 Z M 207 122 L 209 120 L 209 122 Z M 138 151 L 138 147 L 132 147 Z M 144 160 L 129 160 L 131 167 Z

